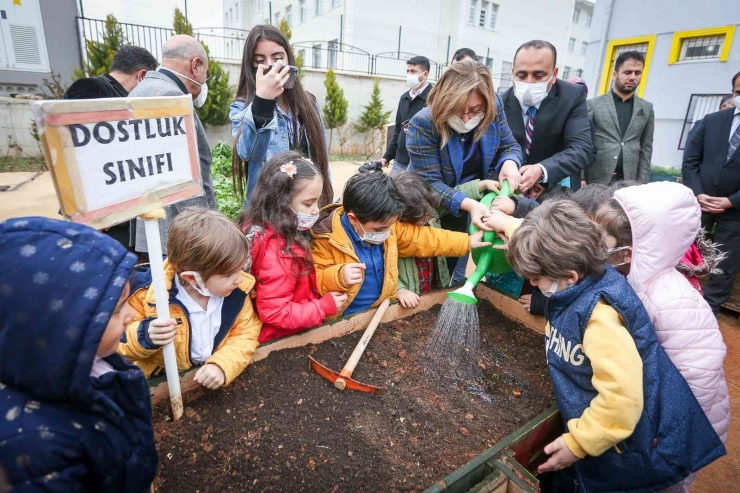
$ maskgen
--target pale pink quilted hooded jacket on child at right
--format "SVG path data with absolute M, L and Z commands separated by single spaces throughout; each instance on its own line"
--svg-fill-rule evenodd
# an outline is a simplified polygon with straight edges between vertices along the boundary
M 632 226 L 627 276 L 655 325 L 658 341 L 726 441 L 730 399 L 722 364 L 727 348 L 717 318 L 676 264 L 696 238 L 701 209 L 693 192 L 657 182 L 614 194 Z

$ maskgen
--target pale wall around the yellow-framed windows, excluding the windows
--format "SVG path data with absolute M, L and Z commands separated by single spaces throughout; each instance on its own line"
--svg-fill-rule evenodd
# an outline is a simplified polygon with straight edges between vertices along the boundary
M 606 43 L 602 38 L 610 5 L 613 15 L 607 40 L 633 36 L 657 35 L 652 63 L 643 76 L 644 98 L 654 105 L 655 136 L 653 164 L 680 168 L 683 151 L 678 149 L 692 94 L 729 94 L 731 79 L 740 70 L 740 30 L 735 33 L 729 59 L 687 61 L 668 64 L 676 31 L 740 25 L 737 0 L 713 0 L 712 8 L 696 4 L 677 8 L 674 2 L 655 0 L 600 0 L 596 2 L 591 41 L 587 52 L 586 73 L 589 96 L 598 95 L 601 73 L 606 61 Z M 592 85 L 595 84 L 595 85 Z

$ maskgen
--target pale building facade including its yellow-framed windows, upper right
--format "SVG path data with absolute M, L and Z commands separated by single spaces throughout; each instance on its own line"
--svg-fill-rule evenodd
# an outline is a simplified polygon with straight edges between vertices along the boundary
M 645 53 L 638 95 L 653 103 L 653 165 L 679 168 L 691 126 L 719 110 L 740 71 L 737 0 L 711 8 L 678 8 L 665 0 L 599 0 L 586 51 L 589 96 L 611 88 L 614 61 L 623 51 Z

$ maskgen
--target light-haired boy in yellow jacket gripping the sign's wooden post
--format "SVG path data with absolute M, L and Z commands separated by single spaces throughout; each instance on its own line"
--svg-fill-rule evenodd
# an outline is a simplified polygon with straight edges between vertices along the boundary
M 157 318 L 152 273 L 136 268 L 129 303 L 136 316 L 118 351 L 147 376 L 164 371 L 162 346 L 175 341 L 178 370 L 203 365 L 195 381 L 228 385 L 252 361 L 262 322 L 252 309 L 254 278 L 244 234 L 215 211 L 186 209 L 170 225 L 164 262 L 170 319 Z

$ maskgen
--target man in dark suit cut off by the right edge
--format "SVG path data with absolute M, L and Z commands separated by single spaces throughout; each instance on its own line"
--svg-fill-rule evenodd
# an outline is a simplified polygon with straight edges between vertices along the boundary
M 732 78 L 735 105 L 740 106 L 740 72 Z M 722 274 L 712 274 L 704 299 L 717 313 L 732 292 L 740 269 L 740 107 L 711 113 L 692 129 L 683 154 L 683 182 L 696 195 L 702 226 L 727 257 Z

